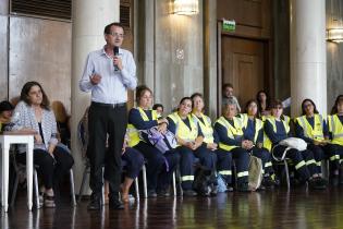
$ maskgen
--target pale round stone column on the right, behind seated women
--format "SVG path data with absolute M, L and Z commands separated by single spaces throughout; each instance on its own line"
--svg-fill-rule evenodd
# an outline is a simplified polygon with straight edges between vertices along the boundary
M 326 1 L 291 0 L 292 117 L 310 98 L 327 113 Z

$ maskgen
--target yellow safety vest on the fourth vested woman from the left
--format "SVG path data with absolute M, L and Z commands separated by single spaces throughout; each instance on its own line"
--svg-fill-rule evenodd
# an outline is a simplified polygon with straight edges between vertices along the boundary
M 226 134 L 228 137 L 230 138 L 235 138 L 236 136 L 243 136 L 243 124 L 242 124 L 242 120 L 240 118 L 233 117 L 233 123 L 234 126 L 232 126 L 228 120 L 224 117 L 220 117 L 216 122 L 218 122 L 219 124 L 221 124 L 222 126 L 224 126 L 226 129 Z M 233 148 L 236 148 L 238 146 L 236 145 L 226 145 L 224 143 L 219 143 L 219 148 L 222 148 L 224 150 L 231 150 Z

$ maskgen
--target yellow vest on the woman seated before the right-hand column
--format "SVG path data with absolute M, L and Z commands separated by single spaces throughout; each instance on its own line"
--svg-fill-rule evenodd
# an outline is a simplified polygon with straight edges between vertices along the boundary
M 315 123 L 314 128 L 309 124 L 308 120 L 306 119 L 306 116 L 302 116 L 296 118 L 297 123 L 303 128 L 304 135 L 306 137 L 309 137 L 311 140 L 324 140 L 322 126 L 323 126 L 323 120 L 320 114 L 315 114 Z

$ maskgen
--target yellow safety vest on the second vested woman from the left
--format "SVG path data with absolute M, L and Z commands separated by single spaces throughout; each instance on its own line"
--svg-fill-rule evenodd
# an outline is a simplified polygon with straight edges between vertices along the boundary
M 191 114 L 187 116 L 191 124 L 189 130 L 189 128 L 182 121 L 177 112 L 171 113 L 168 117 L 171 118 L 176 125 L 175 135 L 177 137 L 186 142 L 194 142 L 196 140 L 196 137 L 198 136 L 198 126 L 196 119 L 194 119 Z

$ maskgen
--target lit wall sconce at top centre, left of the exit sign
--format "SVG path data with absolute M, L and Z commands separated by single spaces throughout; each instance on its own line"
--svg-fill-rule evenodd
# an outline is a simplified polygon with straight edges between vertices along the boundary
M 199 13 L 198 0 L 173 0 L 172 13 L 179 15 L 193 15 Z

